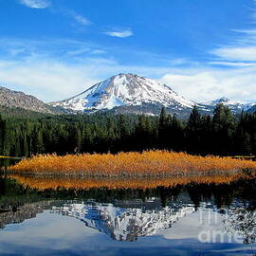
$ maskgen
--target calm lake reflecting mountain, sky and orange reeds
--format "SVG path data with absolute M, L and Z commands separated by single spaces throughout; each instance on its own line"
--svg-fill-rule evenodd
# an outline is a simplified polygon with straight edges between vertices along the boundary
M 256 255 L 255 177 L 78 182 L 2 176 L 0 255 Z

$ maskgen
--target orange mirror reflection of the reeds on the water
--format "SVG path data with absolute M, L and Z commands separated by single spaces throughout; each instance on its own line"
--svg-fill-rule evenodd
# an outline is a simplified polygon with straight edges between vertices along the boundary
M 53 176 L 27 176 L 27 175 L 11 175 L 24 186 L 33 189 L 92 189 L 92 188 L 108 188 L 108 189 L 154 189 L 156 187 L 175 187 L 177 185 L 186 185 L 188 183 L 197 184 L 222 184 L 235 181 L 242 178 L 242 174 L 233 175 L 211 175 L 211 176 L 174 176 L 169 178 L 76 178 L 76 177 L 53 177 Z

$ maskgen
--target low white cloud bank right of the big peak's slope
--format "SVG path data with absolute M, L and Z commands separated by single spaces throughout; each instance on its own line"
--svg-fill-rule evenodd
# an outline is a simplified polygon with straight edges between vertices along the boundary
M 193 101 L 212 101 L 224 96 L 235 101 L 256 101 L 256 67 L 180 69 L 164 75 L 159 82 L 170 84 Z

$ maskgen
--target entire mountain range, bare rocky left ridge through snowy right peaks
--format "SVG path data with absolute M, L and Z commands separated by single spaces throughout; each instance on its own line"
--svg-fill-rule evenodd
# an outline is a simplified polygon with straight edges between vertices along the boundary
M 146 114 L 158 116 L 163 106 L 170 114 L 187 119 L 192 107 L 197 105 L 202 114 L 212 114 L 215 106 L 223 103 L 233 113 L 242 110 L 253 113 L 256 103 L 242 103 L 221 98 L 197 103 L 178 95 L 166 84 L 135 74 L 119 74 L 99 82 L 81 94 L 66 99 L 45 103 L 33 96 L 0 86 L 0 108 L 20 108 L 46 114 L 76 114 L 111 111 L 114 114 Z M 5 110 L 5 109 L 4 109 Z

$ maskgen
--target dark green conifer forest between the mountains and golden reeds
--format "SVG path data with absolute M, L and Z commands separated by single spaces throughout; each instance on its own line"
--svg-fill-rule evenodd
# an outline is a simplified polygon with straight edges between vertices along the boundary
M 166 149 L 200 155 L 256 155 L 256 113 L 234 116 L 218 104 L 213 116 L 192 109 L 177 119 L 137 115 L 15 115 L 0 119 L 0 155 L 118 153 Z M 27 113 L 27 112 L 26 112 Z

